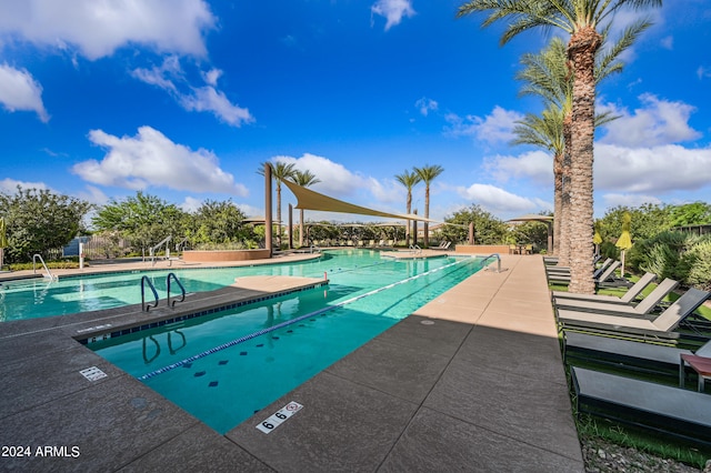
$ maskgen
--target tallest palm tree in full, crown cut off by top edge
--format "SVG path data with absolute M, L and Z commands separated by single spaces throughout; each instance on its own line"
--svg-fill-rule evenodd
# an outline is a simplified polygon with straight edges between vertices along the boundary
M 570 285 L 579 293 L 593 293 L 595 285 L 590 271 L 593 254 L 592 163 L 594 143 L 595 53 L 602 44 L 597 28 L 625 7 L 643 9 L 659 7 L 662 0 L 471 0 L 459 7 L 458 17 L 489 11 L 483 21 L 489 27 L 508 19 L 501 43 L 538 27 L 560 28 L 570 34 L 568 64 L 573 78 L 570 145 Z M 640 21 L 637 24 L 645 24 Z

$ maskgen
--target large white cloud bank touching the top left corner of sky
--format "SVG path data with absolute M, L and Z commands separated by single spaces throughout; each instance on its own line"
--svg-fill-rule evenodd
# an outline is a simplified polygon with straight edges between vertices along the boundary
M 0 2 L 0 33 L 36 44 L 78 49 L 96 60 L 141 44 L 204 57 L 216 17 L 203 0 L 23 0 Z

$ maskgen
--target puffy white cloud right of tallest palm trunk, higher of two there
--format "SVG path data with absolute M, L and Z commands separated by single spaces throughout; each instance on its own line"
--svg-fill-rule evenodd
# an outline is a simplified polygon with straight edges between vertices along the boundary
M 619 119 L 602 127 L 604 137 L 600 140 L 605 144 L 622 147 L 655 147 L 695 140 L 701 137 L 697 130 L 689 127 L 689 118 L 695 108 L 683 102 L 660 100 L 655 95 L 645 93 L 639 97 L 643 108 L 630 113 L 625 108 L 614 104 L 602 104 L 601 111 L 611 111 Z

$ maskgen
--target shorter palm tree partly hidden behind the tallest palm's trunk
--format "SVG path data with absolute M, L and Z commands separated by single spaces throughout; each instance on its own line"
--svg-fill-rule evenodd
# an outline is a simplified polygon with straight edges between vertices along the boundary
M 600 49 L 595 61 L 595 83 L 612 73 L 620 72 L 622 62 L 617 58 L 627 50 L 639 34 L 649 27 L 649 23 L 639 23 L 628 29 L 613 47 Z M 602 32 L 603 42 L 607 42 L 609 28 Z M 564 160 L 564 135 L 569 133 L 563 129 L 563 123 L 569 122 L 572 110 L 572 77 L 567 68 L 565 44 L 560 38 L 553 38 L 549 46 L 539 54 L 527 53 L 521 58 L 524 68 L 517 73 L 517 79 L 523 81 L 521 95 L 541 97 L 548 105 L 541 117 L 527 114 L 518 122 L 513 132 L 517 139 L 513 144 L 533 144 L 544 148 L 553 153 L 553 182 L 554 182 L 554 215 L 553 221 L 553 253 L 560 254 L 560 264 L 569 265 L 570 251 L 568 236 L 561 230 L 561 223 L 570 219 L 565 218 L 568 210 L 569 177 L 567 160 Z M 568 120 L 567 120 L 568 118 Z M 610 112 L 595 114 L 595 128 L 617 119 Z M 561 235 L 563 238 L 561 238 Z

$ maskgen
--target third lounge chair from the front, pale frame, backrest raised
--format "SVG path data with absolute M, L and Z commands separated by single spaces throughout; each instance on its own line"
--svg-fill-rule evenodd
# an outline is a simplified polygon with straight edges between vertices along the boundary
M 711 293 L 698 289 L 689 289 L 664 312 L 654 319 L 642 319 L 629 315 L 610 315 L 594 312 L 558 311 L 558 324 L 561 330 L 584 330 L 613 334 L 643 335 L 654 338 L 677 338 L 671 334 L 681 321 L 705 301 Z

